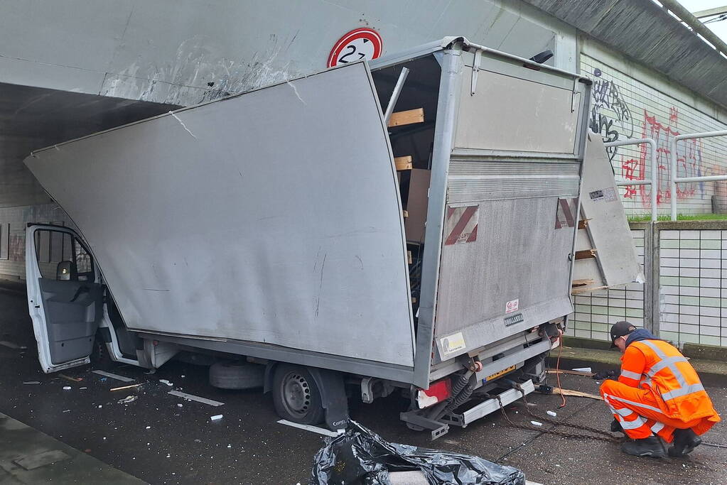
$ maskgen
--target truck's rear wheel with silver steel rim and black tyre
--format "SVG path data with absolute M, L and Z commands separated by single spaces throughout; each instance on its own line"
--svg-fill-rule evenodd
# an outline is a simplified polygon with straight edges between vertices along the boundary
M 321 391 L 308 369 L 292 364 L 278 364 L 273 374 L 273 404 L 283 419 L 293 423 L 316 425 L 324 420 Z

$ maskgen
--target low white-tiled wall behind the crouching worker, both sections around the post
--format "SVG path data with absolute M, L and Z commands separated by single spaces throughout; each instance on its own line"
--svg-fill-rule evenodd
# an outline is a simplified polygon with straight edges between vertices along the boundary
M 626 319 L 669 341 L 727 347 L 727 226 L 704 221 L 678 229 L 680 224 L 656 224 L 659 251 L 646 257 L 645 233 L 651 229 L 631 232 L 641 264 L 658 261 L 658 291 L 653 296 L 657 301 L 637 283 L 574 296 L 575 312 L 566 335 L 608 340 L 608 327 Z M 648 308 L 654 309 L 653 321 L 645 318 Z

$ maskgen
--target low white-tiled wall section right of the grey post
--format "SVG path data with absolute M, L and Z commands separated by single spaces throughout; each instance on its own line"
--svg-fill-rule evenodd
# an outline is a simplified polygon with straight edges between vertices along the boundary
M 727 346 L 727 231 L 660 231 L 659 275 L 661 336 Z

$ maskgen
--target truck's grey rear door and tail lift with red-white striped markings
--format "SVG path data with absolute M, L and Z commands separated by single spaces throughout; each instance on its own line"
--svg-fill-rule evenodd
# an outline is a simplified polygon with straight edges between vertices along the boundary
M 478 57 L 463 52 L 456 93 L 435 363 L 572 311 L 588 84 Z

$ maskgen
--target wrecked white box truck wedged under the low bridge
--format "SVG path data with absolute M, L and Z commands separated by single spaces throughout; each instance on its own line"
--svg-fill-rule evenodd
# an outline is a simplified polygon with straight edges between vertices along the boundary
M 433 437 L 545 386 L 590 84 L 445 38 L 33 152 L 75 226 L 28 227 L 42 369 L 206 352 L 288 420 L 400 392 Z

